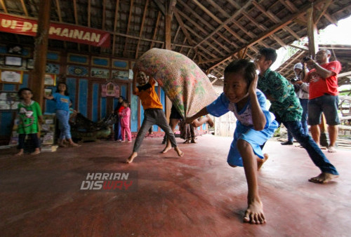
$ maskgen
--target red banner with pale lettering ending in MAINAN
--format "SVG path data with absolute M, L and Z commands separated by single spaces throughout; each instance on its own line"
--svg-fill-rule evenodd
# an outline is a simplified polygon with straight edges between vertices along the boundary
M 0 13 L 0 32 L 36 36 L 37 27 L 37 20 L 29 20 L 27 18 L 14 17 L 12 15 Z M 109 32 L 100 29 L 60 23 L 50 23 L 50 29 L 48 31 L 49 39 L 86 43 L 103 48 L 110 47 L 110 37 Z

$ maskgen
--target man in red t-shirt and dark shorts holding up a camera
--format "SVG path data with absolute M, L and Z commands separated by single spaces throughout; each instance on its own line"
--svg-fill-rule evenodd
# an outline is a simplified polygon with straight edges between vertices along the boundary
M 316 53 L 315 60 L 303 58 L 303 64 L 312 68 L 305 71 L 304 82 L 310 83 L 310 97 L 308 102 L 308 123 L 311 126 L 313 140 L 319 145 L 319 123 L 321 114 L 326 117 L 328 124 L 329 146 L 328 152 L 336 152 L 335 143 L 338 137 L 338 73 L 341 70 L 340 62 L 329 62 L 330 50 L 323 49 Z

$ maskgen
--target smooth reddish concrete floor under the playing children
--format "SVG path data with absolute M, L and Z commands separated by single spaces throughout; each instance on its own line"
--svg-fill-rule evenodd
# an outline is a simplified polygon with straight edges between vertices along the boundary
M 242 222 L 244 170 L 226 164 L 231 138 L 197 142 L 180 144 L 179 158 L 159 153 L 161 138 L 145 139 L 131 164 L 123 162 L 133 143 L 84 143 L 22 158 L 1 150 L 0 235 L 350 236 L 351 150 L 326 153 L 340 177 L 314 184 L 307 180 L 319 170 L 304 149 L 267 142 L 270 158 L 259 174 L 267 223 L 251 225 Z M 136 170 L 138 187 L 79 191 L 88 172 L 106 170 Z

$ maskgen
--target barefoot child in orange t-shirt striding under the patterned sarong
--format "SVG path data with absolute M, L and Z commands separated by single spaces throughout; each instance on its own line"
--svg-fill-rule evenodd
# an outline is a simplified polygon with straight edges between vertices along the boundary
M 144 120 L 135 139 L 133 153 L 127 158 L 126 163 L 132 163 L 133 159 L 138 156 L 138 150 L 144 140 L 144 136 L 149 128 L 154 126 L 154 124 L 164 130 L 166 135 L 169 137 L 169 140 L 171 140 L 172 147 L 177 152 L 178 156 L 183 156 L 183 152 L 177 147 L 176 137 L 174 136 L 171 127 L 168 126 L 166 116 L 164 115 L 163 106 L 159 101 L 156 91 L 154 90 L 154 79 L 149 80 L 145 72 L 142 71 L 134 75 L 133 94 L 138 95 L 141 100 L 141 104 L 144 108 Z M 138 86 L 136 86 L 137 80 Z

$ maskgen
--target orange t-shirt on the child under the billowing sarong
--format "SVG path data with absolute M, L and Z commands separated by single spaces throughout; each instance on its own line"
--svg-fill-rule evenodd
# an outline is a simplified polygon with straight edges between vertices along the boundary
M 159 97 L 157 96 L 156 91 L 154 90 L 154 79 L 151 79 L 149 83 L 146 83 L 143 86 L 137 86 L 138 92 L 135 95 L 141 100 L 141 104 L 144 109 L 163 109 Z

